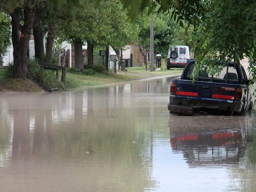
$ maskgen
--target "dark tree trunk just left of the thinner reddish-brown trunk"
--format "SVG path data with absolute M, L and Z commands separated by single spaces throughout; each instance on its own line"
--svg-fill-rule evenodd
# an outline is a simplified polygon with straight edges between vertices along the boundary
M 83 44 L 81 39 L 73 39 L 75 50 L 75 67 L 84 70 Z

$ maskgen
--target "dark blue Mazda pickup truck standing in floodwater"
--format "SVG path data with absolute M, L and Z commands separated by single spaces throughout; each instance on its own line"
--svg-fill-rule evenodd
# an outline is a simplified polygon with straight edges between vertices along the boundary
M 216 63 L 220 66 L 220 63 Z M 173 79 L 170 87 L 170 113 L 178 114 L 244 114 L 253 105 L 243 66 L 228 63 L 220 66 L 217 75 L 209 75 L 200 67 L 199 75 L 191 81 L 195 60 L 189 60 L 180 79 Z

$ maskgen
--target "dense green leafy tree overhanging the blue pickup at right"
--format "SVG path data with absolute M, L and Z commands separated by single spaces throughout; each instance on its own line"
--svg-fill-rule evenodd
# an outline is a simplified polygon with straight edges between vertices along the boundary
M 195 28 L 191 41 L 196 50 L 196 59 L 218 71 L 217 60 L 240 63 L 249 58 L 250 73 L 256 79 L 256 8 L 255 1 L 206 2 L 208 14 Z M 209 63 L 207 60 L 212 59 Z M 225 64 L 225 63 L 224 63 Z

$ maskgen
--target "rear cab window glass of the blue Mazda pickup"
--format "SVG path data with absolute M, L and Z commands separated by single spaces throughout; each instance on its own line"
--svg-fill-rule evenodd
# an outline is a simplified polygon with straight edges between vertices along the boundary
M 186 74 L 186 79 L 191 79 L 193 73 L 195 71 L 195 64 L 191 64 L 188 72 Z M 227 70 L 227 66 L 219 66 L 219 71 L 211 75 L 210 69 L 208 66 L 201 66 L 199 70 L 199 75 L 196 77 L 196 80 L 200 81 L 212 81 L 212 82 L 229 82 L 229 83 L 238 83 L 239 75 L 238 70 L 235 66 L 229 66 Z

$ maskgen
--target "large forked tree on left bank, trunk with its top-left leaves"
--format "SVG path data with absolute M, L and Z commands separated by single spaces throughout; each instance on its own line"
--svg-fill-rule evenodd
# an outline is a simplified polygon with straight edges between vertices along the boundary
M 26 78 L 27 74 L 27 52 L 30 34 L 34 22 L 34 9 L 32 0 L 17 2 L 4 0 L 1 11 L 11 16 L 12 44 L 13 44 L 13 77 Z M 23 19 L 23 22 L 21 20 Z

